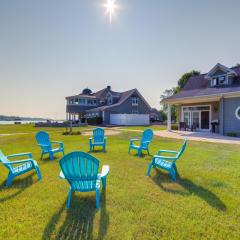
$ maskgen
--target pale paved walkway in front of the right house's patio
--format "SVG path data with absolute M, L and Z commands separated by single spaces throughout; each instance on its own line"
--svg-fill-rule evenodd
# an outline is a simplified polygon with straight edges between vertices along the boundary
M 193 141 L 214 142 L 226 144 L 240 144 L 240 138 L 222 136 L 217 133 L 209 132 L 187 132 L 187 131 L 154 131 L 154 135 L 166 138 L 184 139 L 188 138 Z

